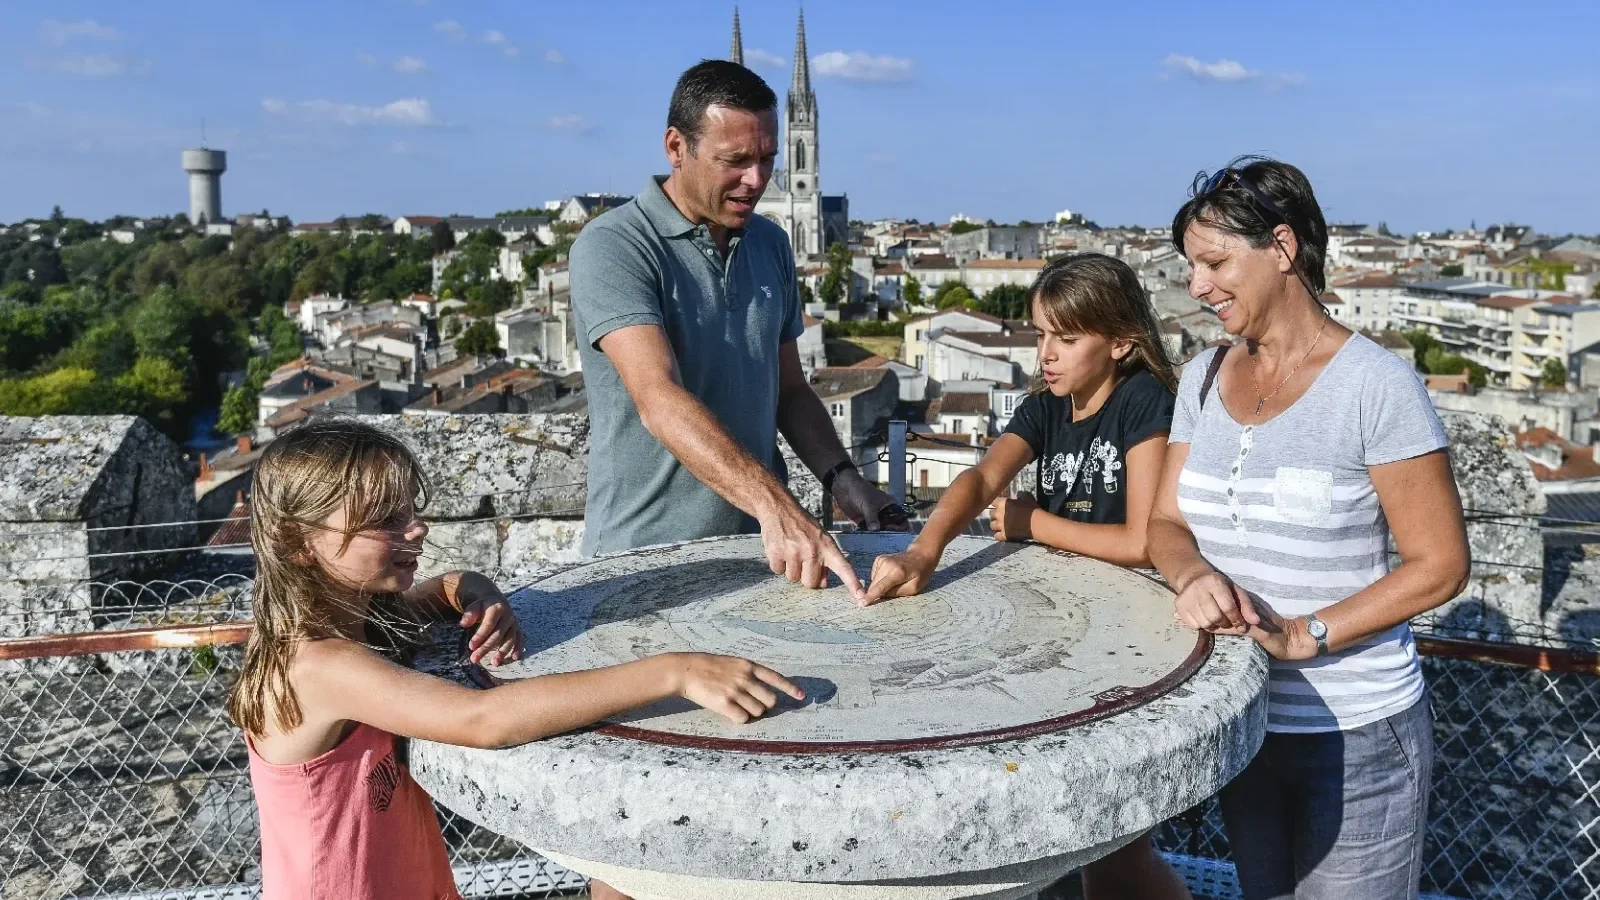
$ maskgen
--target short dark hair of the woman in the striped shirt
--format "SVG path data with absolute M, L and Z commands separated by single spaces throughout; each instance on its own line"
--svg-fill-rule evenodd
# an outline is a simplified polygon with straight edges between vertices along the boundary
M 1272 243 L 1272 229 L 1286 224 L 1299 245 L 1294 255 L 1298 274 L 1309 282 L 1306 287 L 1312 291 L 1312 299 L 1320 298 L 1328 283 L 1323 272 L 1328 258 L 1328 223 L 1322 218 L 1322 207 L 1317 205 L 1317 195 L 1312 194 L 1306 173 L 1286 162 L 1250 155 L 1227 163 L 1227 170 L 1232 176 L 1218 181 L 1210 192 L 1205 186 L 1211 176 L 1203 171 L 1195 176 L 1189 186 L 1189 200 L 1173 216 L 1173 245 L 1187 256 L 1184 237 L 1189 226 L 1203 224 L 1235 234 L 1261 250 Z M 1270 207 L 1277 210 L 1262 203 L 1262 199 L 1270 200 Z

